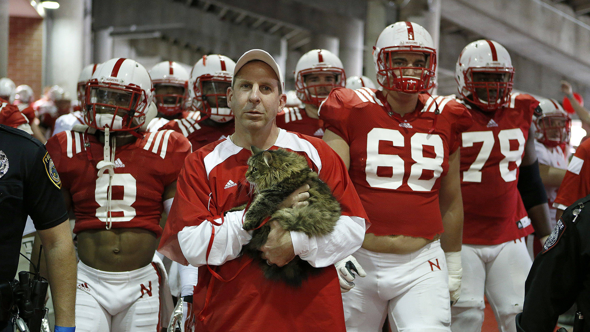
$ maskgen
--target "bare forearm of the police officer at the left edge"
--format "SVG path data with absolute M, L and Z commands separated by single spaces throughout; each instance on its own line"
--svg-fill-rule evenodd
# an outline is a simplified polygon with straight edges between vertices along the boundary
M 44 246 L 44 251 L 55 310 L 55 325 L 75 326 L 76 255 L 70 235 L 65 235 L 55 244 Z

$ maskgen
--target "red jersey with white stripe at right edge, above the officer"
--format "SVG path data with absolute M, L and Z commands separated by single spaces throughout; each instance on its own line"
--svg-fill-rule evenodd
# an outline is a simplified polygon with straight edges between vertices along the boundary
M 585 140 L 578 146 L 568 170 L 559 186 L 557 198 L 553 206 L 565 210 L 576 200 L 588 196 L 590 193 L 590 140 Z

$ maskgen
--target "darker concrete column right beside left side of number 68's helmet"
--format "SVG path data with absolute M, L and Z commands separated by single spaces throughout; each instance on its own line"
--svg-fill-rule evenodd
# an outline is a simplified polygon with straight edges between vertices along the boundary
M 363 49 L 363 75 L 377 82 L 375 63 L 373 62 L 373 46 L 385 29 L 385 5 L 381 0 L 367 1 L 367 16 L 365 19 L 365 47 Z M 350 76 L 349 76 L 350 77 Z

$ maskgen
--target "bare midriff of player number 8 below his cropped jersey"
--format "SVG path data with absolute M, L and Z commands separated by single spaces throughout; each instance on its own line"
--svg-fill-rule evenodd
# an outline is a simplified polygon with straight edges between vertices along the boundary
M 78 256 L 91 268 L 123 272 L 150 264 L 156 234 L 142 228 L 89 229 L 78 233 Z

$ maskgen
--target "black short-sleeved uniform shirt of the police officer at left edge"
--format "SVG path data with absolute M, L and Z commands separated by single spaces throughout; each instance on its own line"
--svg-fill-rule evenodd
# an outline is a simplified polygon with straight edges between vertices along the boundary
M 0 282 L 17 273 L 22 232 L 67 221 L 61 181 L 45 146 L 19 129 L 0 124 Z

